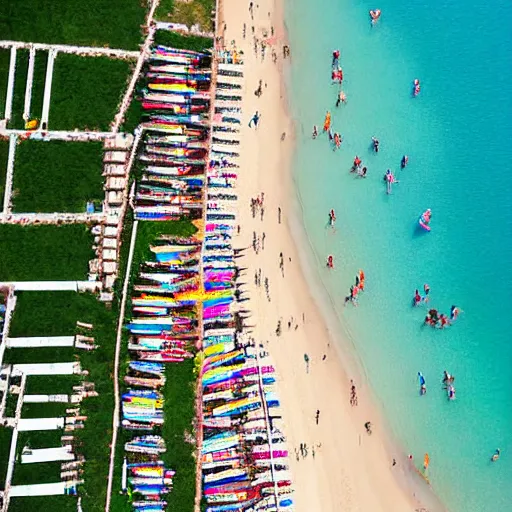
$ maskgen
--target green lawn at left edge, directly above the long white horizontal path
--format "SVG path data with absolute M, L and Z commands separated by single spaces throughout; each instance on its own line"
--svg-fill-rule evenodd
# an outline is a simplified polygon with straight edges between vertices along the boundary
M 87 279 L 93 236 L 81 224 L 0 225 L 0 281 Z

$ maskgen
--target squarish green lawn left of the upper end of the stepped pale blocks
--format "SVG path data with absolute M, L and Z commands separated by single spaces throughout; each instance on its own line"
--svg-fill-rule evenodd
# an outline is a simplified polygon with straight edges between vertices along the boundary
M 16 149 L 15 212 L 84 212 L 102 201 L 103 144 L 26 140 Z

